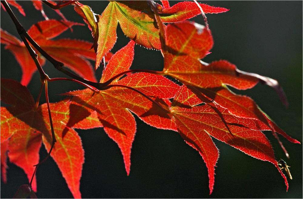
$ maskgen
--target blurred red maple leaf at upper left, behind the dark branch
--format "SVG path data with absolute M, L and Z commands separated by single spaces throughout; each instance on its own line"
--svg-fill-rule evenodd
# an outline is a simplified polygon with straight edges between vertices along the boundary
M 90 49 L 92 43 L 72 39 L 50 40 L 62 32 L 78 25 L 75 22 L 65 22 L 58 20 L 48 20 L 38 22 L 33 25 L 28 34 L 40 45 L 49 55 L 65 64 L 66 67 L 75 71 L 81 77 L 90 81 L 96 81 L 91 64 L 86 59 L 95 60 L 94 50 Z M 1 30 L 1 43 L 6 44 L 6 49 L 10 50 L 16 57 L 22 68 L 22 85 L 28 85 L 32 74 L 37 70 L 35 62 L 32 60 L 23 42 L 14 36 Z M 45 58 L 38 53 L 40 65 L 44 65 Z

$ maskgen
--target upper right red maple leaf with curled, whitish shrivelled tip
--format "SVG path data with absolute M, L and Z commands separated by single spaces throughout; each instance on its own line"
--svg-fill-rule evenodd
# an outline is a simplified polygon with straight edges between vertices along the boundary
M 205 57 L 213 45 L 211 32 L 204 26 L 188 21 L 169 24 L 162 35 L 165 37 L 165 44 L 162 44 L 161 50 L 164 56 L 164 75 L 170 75 L 187 85 L 214 110 L 217 110 L 218 105 L 228 108 L 235 116 L 258 119 L 273 130 L 252 99 L 235 95 L 225 85 L 248 89 L 261 81 L 275 88 L 278 93 L 280 92 L 280 96 L 284 96 L 277 81 L 240 71 L 228 61 L 202 64 L 200 59 Z M 224 121 L 223 118 L 222 120 Z

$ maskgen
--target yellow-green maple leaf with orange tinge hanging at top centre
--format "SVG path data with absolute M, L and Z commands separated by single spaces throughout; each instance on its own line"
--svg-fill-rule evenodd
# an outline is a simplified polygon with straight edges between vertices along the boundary
M 154 19 L 145 13 L 147 3 L 142 1 L 109 2 L 98 22 L 97 58 L 95 70 L 101 59 L 114 46 L 118 22 L 126 36 L 146 48 L 160 49 L 158 29 Z

